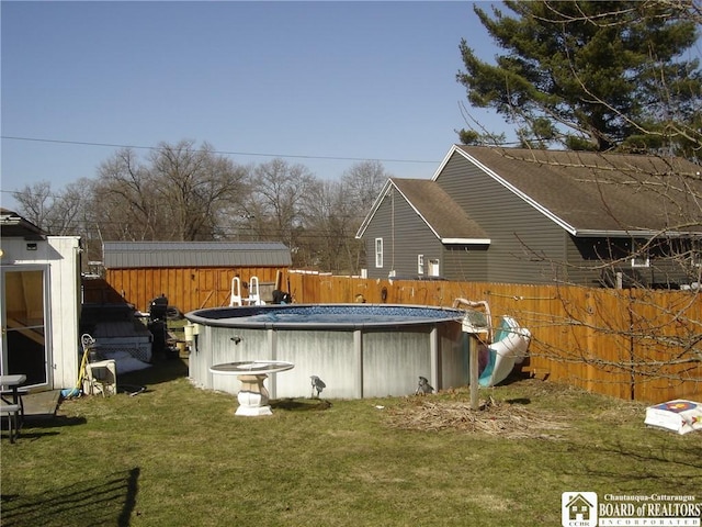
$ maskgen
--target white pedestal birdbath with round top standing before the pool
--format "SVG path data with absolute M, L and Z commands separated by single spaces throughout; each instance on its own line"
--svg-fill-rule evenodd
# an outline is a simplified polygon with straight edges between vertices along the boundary
M 268 404 L 269 393 L 263 381 L 271 373 L 291 370 L 294 367 L 292 362 L 279 360 L 253 360 L 214 365 L 210 371 L 220 375 L 237 375 L 241 382 L 241 390 L 237 395 L 239 407 L 235 415 L 258 416 L 273 413 Z

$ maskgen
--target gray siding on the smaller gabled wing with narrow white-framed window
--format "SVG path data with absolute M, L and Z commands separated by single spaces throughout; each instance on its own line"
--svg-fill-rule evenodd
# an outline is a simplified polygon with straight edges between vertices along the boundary
M 424 274 L 429 259 L 442 257 L 441 242 L 423 220 L 395 189 L 383 199 L 365 234 L 369 278 L 417 276 L 417 256 L 424 256 Z M 383 267 L 375 267 L 375 238 L 383 238 Z

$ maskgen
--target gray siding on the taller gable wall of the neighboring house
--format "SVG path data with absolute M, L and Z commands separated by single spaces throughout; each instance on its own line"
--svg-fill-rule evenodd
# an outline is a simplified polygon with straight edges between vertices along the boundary
M 435 181 L 488 234 L 491 243 L 485 253 L 485 280 L 543 283 L 567 279 L 558 276 L 563 268 L 554 266 L 566 257 L 561 226 L 458 154 L 451 157 Z M 467 279 L 482 280 L 473 276 Z

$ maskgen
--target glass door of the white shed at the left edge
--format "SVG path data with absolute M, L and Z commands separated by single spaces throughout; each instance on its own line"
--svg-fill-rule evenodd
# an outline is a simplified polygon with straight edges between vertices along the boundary
M 27 385 L 48 383 L 46 270 L 2 269 L 2 374 L 24 373 Z

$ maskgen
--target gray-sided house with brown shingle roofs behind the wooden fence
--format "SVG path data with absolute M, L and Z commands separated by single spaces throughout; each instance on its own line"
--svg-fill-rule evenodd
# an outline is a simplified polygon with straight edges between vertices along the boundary
M 680 158 L 454 145 L 356 237 L 369 278 L 676 288 L 699 280 L 701 195 Z

